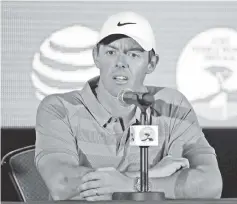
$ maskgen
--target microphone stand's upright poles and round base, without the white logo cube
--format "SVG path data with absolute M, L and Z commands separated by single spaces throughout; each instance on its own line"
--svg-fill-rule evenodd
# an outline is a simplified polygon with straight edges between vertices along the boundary
M 150 125 L 147 121 L 146 109 L 147 105 L 139 104 L 141 109 L 140 125 Z M 150 122 L 150 121 L 149 121 Z M 140 146 L 140 191 L 138 192 L 114 192 L 113 200 L 132 200 L 132 201 L 163 201 L 165 200 L 164 192 L 149 191 L 149 162 L 148 162 L 148 146 Z

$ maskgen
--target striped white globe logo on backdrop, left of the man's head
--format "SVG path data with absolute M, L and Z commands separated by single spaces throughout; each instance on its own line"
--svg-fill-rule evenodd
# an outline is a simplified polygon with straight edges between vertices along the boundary
M 39 100 L 54 93 L 80 90 L 99 75 L 92 49 L 98 32 L 74 25 L 52 33 L 33 58 L 31 79 Z

